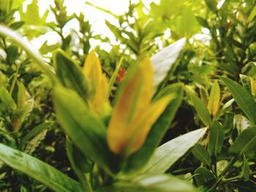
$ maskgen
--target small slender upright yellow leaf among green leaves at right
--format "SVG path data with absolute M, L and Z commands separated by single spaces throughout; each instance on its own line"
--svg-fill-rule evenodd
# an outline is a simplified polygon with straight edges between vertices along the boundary
M 219 109 L 219 99 L 220 99 L 220 89 L 217 81 L 214 82 L 214 85 L 211 87 L 210 98 L 208 101 L 208 111 L 212 115 L 216 115 Z

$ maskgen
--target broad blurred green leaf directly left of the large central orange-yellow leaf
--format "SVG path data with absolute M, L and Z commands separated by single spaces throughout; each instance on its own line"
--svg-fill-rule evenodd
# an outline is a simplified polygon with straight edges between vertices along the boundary
M 118 164 L 107 144 L 107 128 L 86 107 L 75 91 L 60 85 L 54 88 L 56 117 L 72 142 L 88 158 L 116 172 Z

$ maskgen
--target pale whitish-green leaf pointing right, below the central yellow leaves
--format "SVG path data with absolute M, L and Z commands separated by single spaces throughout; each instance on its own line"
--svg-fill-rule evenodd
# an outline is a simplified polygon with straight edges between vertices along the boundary
M 206 128 L 191 131 L 157 148 L 143 169 L 147 174 L 162 174 L 187 153 L 206 133 Z

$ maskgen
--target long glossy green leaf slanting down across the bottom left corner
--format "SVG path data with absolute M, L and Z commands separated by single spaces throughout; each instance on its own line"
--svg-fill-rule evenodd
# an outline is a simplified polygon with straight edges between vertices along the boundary
M 53 191 L 81 191 L 80 185 L 72 178 L 59 172 L 53 166 L 45 164 L 37 158 L 12 149 L 0 143 L 0 159 L 5 164 L 38 180 Z

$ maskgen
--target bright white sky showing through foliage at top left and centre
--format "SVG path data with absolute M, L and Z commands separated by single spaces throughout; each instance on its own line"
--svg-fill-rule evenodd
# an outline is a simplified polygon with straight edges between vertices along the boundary
M 114 18 L 112 15 L 109 15 L 105 12 L 100 11 L 99 9 L 96 9 L 94 7 L 91 7 L 90 5 L 85 4 L 86 0 L 64 0 L 64 4 L 67 6 L 67 12 L 68 14 L 72 15 L 72 13 L 79 13 L 83 12 L 86 16 L 86 20 L 89 20 L 92 25 L 92 31 L 94 31 L 95 34 L 101 34 L 102 37 L 109 37 L 111 42 L 115 44 L 115 38 L 113 37 L 113 34 L 108 29 L 107 26 L 105 26 L 105 20 L 110 21 L 110 23 L 117 24 L 116 18 Z M 116 15 L 122 15 L 124 12 L 128 10 L 129 7 L 129 0 L 87 0 L 88 2 L 97 5 L 98 7 L 102 7 L 104 9 L 110 10 L 110 12 L 113 12 Z M 138 2 L 139 0 L 132 0 L 132 2 Z M 158 3 L 159 0 L 142 0 L 143 3 L 148 7 L 151 2 Z M 27 0 L 25 3 L 29 4 L 31 0 Z M 39 2 L 39 11 L 40 14 L 45 12 L 45 9 L 48 9 L 50 4 L 53 4 L 53 0 L 38 0 Z M 53 15 L 48 16 L 48 20 L 53 20 Z M 65 28 L 67 31 L 70 30 L 70 28 L 78 28 L 78 22 L 72 21 L 69 22 L 67 27 Z M 58 41 L 59 37 L 50 32 L 48 34 L 45 34 L 42 37 L 39 37 L 38 39 L 32 41 L 32 44 L 39 48 L 42 43 L 45 41 L 45 39 L 48 39 L 48 44 L 54 44 Z M 92 47 L 96 46 L 99 42 L 93 41 L 91 42 Z M 110 47 L 107 45 L 101 45 L 102 48 L 105 50 L 109 50 Z

